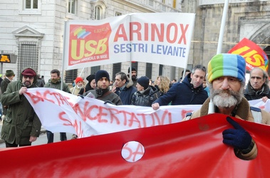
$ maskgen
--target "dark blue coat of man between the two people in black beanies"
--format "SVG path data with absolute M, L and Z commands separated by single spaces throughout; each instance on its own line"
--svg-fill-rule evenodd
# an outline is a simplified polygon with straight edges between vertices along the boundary
M 133 94 L 137 91 L 135 87 L 133 87 L 133 82 L 131 80 L 128 81 L 127 85 L 121 91 L 120 88 L 116 88 L 115 93 L 120 96 L 123 105 L 130 105 L 131 99 L 133 98 Z

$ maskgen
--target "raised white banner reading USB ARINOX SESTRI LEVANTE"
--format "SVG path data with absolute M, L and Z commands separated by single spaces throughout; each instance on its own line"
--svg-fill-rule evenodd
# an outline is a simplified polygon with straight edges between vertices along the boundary
M 186 68 L 194 19 L 195 14 L 187 13 L 136 13 L 99 21 L 67 21 L 64 68 L 125 61 Z

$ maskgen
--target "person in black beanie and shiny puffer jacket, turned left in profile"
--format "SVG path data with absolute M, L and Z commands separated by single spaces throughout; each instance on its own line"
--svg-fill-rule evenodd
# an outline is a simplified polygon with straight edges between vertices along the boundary
M 131 99 L 131 105 L 151 106 L 157 100 L 157 88 L 149 85 L 149 78 L 142 76 L 137 79 L 137 91 Z

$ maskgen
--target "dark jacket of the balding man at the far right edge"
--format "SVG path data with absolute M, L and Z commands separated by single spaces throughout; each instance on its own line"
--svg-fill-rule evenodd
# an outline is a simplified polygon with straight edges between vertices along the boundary
M 262 85 L 262 89 L 259 91 L 253 90 L 250 82 L 246 85 L 246 89 L 244 90 L 244 97 L 246 100 L 257 100 L 263 98 L 264 96 L 270 98 L 269 86 L 265 83 Z

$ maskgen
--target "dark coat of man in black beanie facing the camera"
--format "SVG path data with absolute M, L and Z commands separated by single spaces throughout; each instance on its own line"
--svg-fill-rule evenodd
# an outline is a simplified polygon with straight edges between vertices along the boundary
M 97 88 L 95 90 L 89 90 L 88 92 L 83 93 L 83 95 L 86 96 L 88 95 L 88 93 L 92 93 L 95 96 L 95 98 L 98 100 L 103 100 L 103 101 L 109 100 L 111 103 L 115 105 L 123 105 L 120 97 L 116 95 L 115 93 L 111 92 L 110 90 L 106 91 L 101 96 L 98 96 L 97 90 L 99 89 Z

